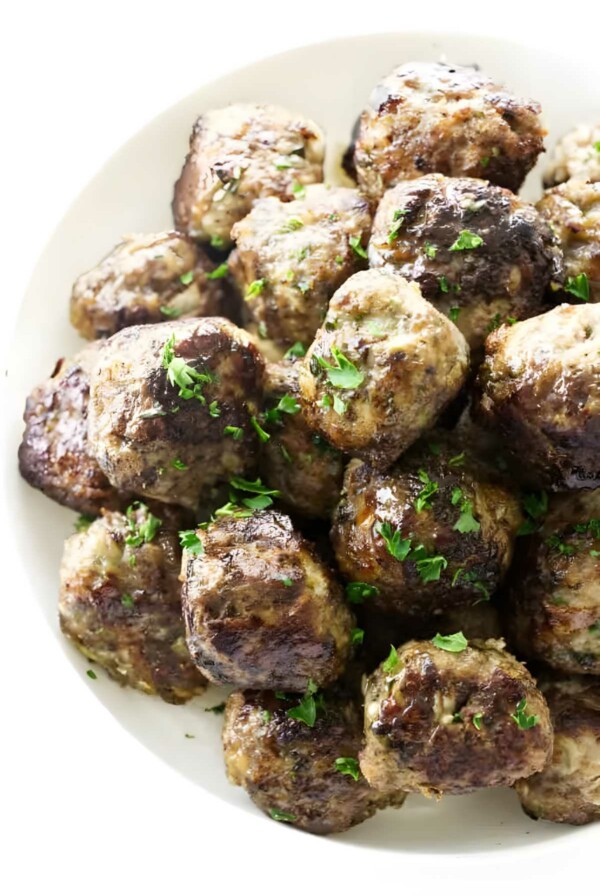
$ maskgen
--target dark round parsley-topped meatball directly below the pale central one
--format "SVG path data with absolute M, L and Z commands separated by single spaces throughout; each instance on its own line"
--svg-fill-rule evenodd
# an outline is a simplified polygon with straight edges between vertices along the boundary
M 331 540 L 342 574 L 369 606 L 423 620 L 487 601 L 510 565 L 517 500 L 451 443 L 418 443 L 385 472 L 346 468 Z

